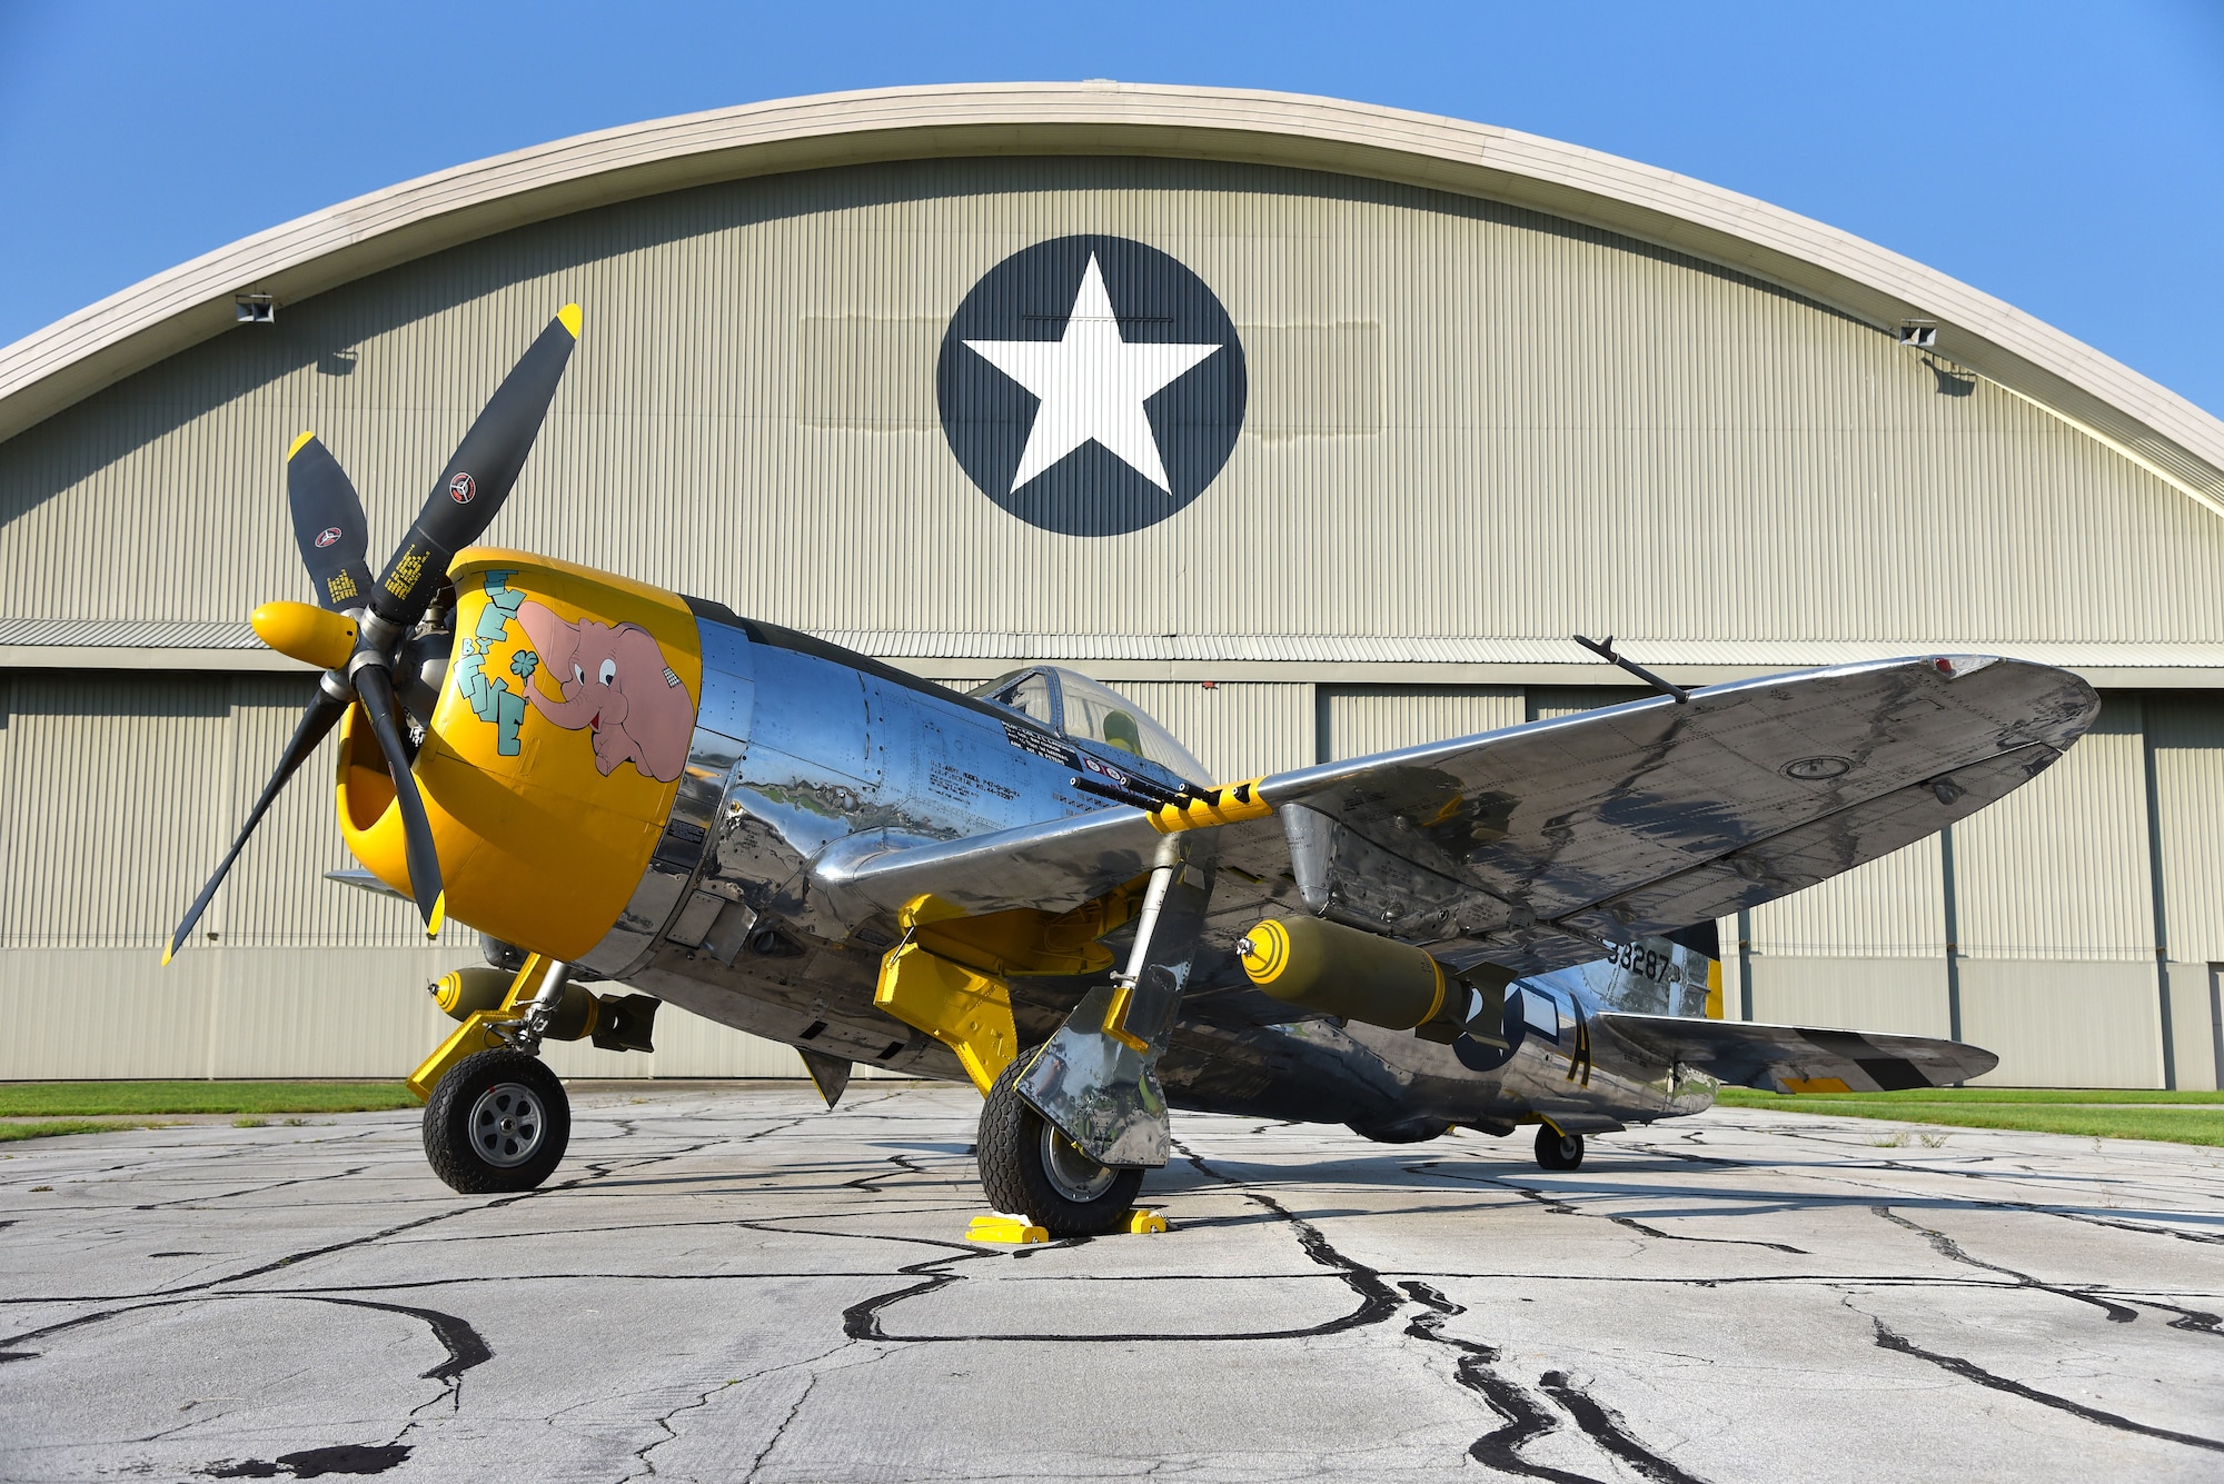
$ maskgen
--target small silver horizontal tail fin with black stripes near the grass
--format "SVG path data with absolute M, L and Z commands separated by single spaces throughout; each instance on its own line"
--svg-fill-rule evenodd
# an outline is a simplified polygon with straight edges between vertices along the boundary
M 1999 1066 L 1999 1057 L 1990 1051 L 1928 1035 L 1815 1031 L 1617 1011 L 1599 1020 L 1664 1062 L 1684 1062 L 1732 1086 L 1755 1086 L 1764 1093 L 1897 1093 L 1968 1082 Z

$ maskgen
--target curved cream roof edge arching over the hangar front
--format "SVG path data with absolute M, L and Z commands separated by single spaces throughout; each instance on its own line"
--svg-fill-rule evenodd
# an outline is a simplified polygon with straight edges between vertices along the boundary
M 0 349 L 0 440 L 278 302 L 487 233 L 636 195 L 947 156 L 1248 160 L 1483 195 L 1657 242 L 1897 329 L 2224 513 L 2224 422 L 1910 258 L 1768 202 L 1532 133 L 1337 98 L 1143 84 L 825 93 L 625 124 L 460 164 L 271 227 Z

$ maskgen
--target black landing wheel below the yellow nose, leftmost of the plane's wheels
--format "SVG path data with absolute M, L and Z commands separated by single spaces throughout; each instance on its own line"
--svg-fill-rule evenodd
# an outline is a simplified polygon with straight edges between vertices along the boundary
M 431 1173 L 465 1195 L 532 1191 L 572 1142 L 572 1102 L 540 1057 L 478 1051 L 425 1104 Z

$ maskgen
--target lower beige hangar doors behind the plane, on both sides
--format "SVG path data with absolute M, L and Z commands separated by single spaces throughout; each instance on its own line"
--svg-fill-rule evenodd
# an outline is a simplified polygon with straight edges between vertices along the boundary
M 1221 780 L 1628 698 L 1270 682 L 1116 689 Z M 207 935 L 158 969 L 176 913 L 225 849 L 307 691 L 307 680 L 269 675 L 16 673 L 0 686 L 0 849 L 11 862 L 0 1015 L 16 1029 L 0 1044 L 0 1077 L 385 1075 L 438 1040 L 447 1022 L 414 991 L 474 962 L 476 940 L 451 929 L 427 946 L 400 902 L 322 880 L 345 864 L 329 820 L 331 744 L 242 855 Z M 2180 1086 L 2215 1084 L 2206 962 L 2224 909 L 2202 822 L 2224 804 L 2224 702 L 2135 695 L 2111 698 L 2059 766 L 1955 831 L 1962 1033 L 2002 1051 L 1993 1082 L 2162 1077 L 2144 889 L 2148 738 L 2177 960 L 2175 1075 Z M 2051 906 L 2033 909 L 2033 898 Z M 1721 926 L 1735 944 L 1735 920 Z M 1735 1013 L 1735 949 L 1728 960 Z M 1942 842 L 1757 909 L 1748 962 L 1759 1020 L 1950 1033 Z M 654 1057 L 563 1046 L 552 1060 L 567 1075 L 796 1071 L 785 1049 L 681 1013 L 658 1040 Z

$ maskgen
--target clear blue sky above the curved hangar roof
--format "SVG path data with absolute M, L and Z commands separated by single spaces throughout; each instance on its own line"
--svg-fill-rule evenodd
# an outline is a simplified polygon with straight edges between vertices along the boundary
M 2224 413 L 2224 0 L 0 0 L 0 344 L 505 149 L 1036 78 L 1330 93 L 1628 156 L 1908 253 Z

